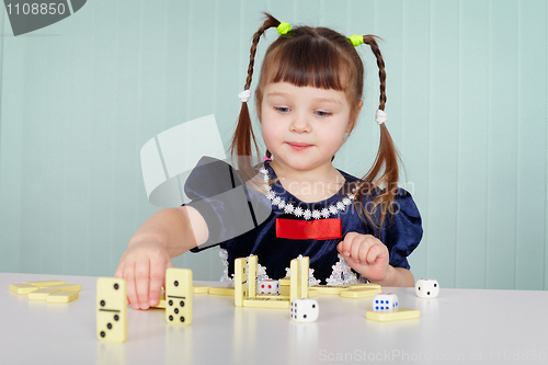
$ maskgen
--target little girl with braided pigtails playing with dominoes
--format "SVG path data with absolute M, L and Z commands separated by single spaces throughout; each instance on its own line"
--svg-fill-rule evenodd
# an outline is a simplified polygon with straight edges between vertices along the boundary
M 252 144 L 259 153 L 247 101 L 256 46 L 271 27 L 281 35 L 266 50 L 255 90 L 267 150 L 263 163 L 253 166 L 242 158 L 252 155 Z M 364 66 L 355 49 L 362 43 L 372 48 L 379 68 L 380 144 L 369 172 L 357 179 L 335 169 L 332 160 L 363 106 Z M 133 307 L 158 304 L 171 258 L 217 244 L 226 278 L 237 258 L 256 254 L 261 276 L 277 280 L 286 276 L 292 259 L 302 255 L 310 258 L 313 283 L 413 286 L 407 256 L 422 238 L 421 217 L 411 195 L 397 187 L 398 155 L 385 125 L 385 79 L 374 36 L 292 30 L 266 14 L 253 36 L 239 94 L 242 107 L 231 147 L 238 170 L 204 158 L 185 184 L 196 204 L 160 210 L 137 230 L 115 273 L 126 278 Z M 219 194 L 238 186 L 244 204 Z M 267 215 L 258 219 L 261 206 Z M 253 225 L 241 229 L 246 217 Z

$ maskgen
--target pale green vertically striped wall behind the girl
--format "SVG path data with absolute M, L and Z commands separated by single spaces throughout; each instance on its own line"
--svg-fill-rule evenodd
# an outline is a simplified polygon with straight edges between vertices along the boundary
M 388 127 L 425 229 L 410 258 L 415 278 L 548 287 L 545 0 L 89 0 L 16 37 L 2 7 L 0 271 L 112 276 L 158 209 L 141 146 L 215 114 L 228 148 L 262 11 L 383 38 Z M 259 62 L 275 37 L 266 32 Z M 377 70 L 359 53 L 365 107 L 335 159 L 356 175 L 378 144 Z M 197 280 L 222 272 L 216 249 L 174 263 Z

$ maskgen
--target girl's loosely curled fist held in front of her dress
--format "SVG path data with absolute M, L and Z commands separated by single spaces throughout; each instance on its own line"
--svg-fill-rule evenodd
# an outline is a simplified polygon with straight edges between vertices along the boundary
M 349 232 L 336 250 L 349 265 L 370 282 L 383 282 L 389 270 L 387 247 L 370 235 Z

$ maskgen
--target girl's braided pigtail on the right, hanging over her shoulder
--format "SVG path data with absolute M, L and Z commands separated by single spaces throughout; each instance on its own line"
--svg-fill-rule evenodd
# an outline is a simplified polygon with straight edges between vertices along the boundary
M 380 49 L 375 41 L 374 35 L 364 35 L 364 43 L 369 45 L 373 54 L 377 59 L 378 66 L 378 76 L 380 81 L 380 96 L 379 96 L 379 106 L 380 111 L 385 110 L 386 104 L 386 71 L 385 71 L 385 61 L 383 59 L 383 55 Z M 357 202 L 362 202 L 362 196 L 364 193 L 373 194 L 374 191 L 381 187 L 381 193 L 373 198 L 373 209 L 372 213 L 375 212 L 379 206 L 381 207 L 380 217 L 378 220 L 378 228 L 383 229 L 383 225 L 385 223 L 386 214 L 390 209 L 393 203 L 398 180 L 399 180 L 399 155 L 396 150 L 396 146 L 393 145 L 392 137 L 388 132 L 385 123 L 379 124 L 380 127 L 380 141 L 377 150 L 377 156 L 375 158 L 375 162 L 367 174 L 362 179 L 362 182 L 365 182 L 366 192 L 358 191 Z M 370 213 L 365 212 L 366 217 L 372 221 Z M 373 221 L 372 221 L 373 223 Z

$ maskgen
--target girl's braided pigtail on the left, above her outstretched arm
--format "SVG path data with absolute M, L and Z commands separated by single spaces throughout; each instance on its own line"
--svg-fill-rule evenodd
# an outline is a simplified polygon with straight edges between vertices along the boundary
M 253 39 L 250 49 L 249 66 L 248 66 L 248 77 L 246 79 L 246 85 L 243 87 L 244 92 L 246 91 L 249 92 L 249 88 L 251 87 L 251 81 L 253 77 L 253 66 L 255 62 L 255 53 L 261 36 L 266 30 L 279 25 L 279 21 L 276 20 L 274 16 L 267 13 L 265 13 L 265 15 L 266 20 L 264 21 L 263 25 L 261 25 L 261 27 L 255 32 L 255 34 L 253 34 Z M 240 172 L 243 173 L 242 176 L 243 181 L 248 181 L 250 178 L 254 175 L 253 167 L 251 164 L 251 156 L 253 156 L 251 151 L 252 141 L 253 145 L 255 146 L 255 151 L 258 157 L 260 156 L 260 152 L 259 152 L 259 146 L 256 145 L 255 135 L 253 133 L 251 117 L 249 114 L 248 101 L 242 99 L 241 102 L 242 103 L 241 103 L 240 115 L 238 116 L 238 124 L 232 137 L 230 152 L 232 155 L 232 158 L 235 156 L 235 152 L 237 153 L 238 169 L 240 170 Z

